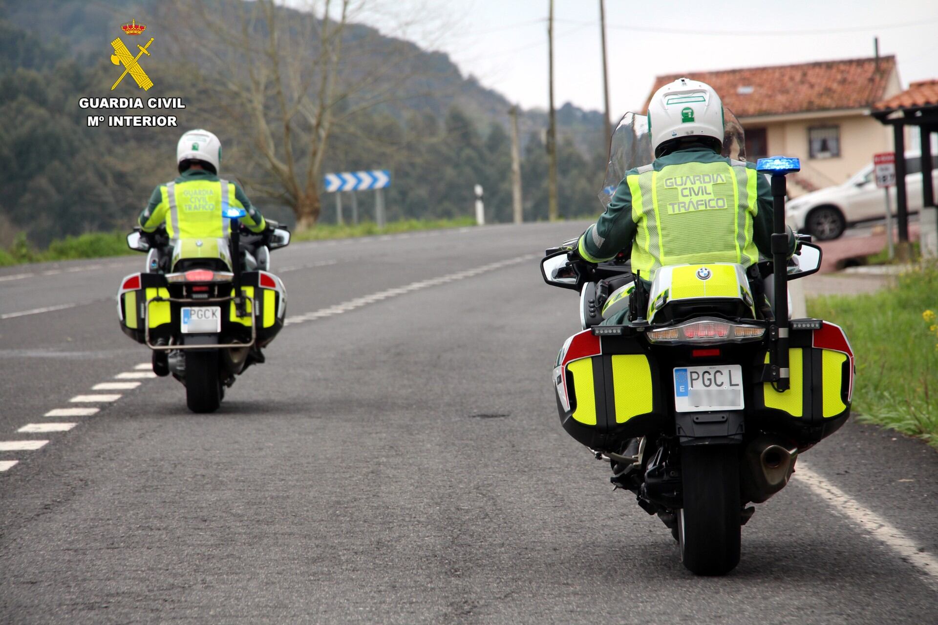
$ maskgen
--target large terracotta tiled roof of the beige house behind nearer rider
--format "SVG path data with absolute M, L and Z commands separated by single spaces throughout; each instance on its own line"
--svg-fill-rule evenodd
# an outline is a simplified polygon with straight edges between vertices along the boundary
M 878 69 L 875 58 L 864 58 L 672 74 L 655 79 L 648 100 L 662 85 L 686 76 L 716 89 L 736 117 L 866 109 L 883 98 L 895 67 L 890 55 L 880 57 Z

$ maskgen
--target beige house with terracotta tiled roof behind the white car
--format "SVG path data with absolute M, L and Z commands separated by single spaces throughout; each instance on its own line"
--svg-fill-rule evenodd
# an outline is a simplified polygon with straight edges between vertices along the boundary
M 801 158 L 802 171 L 790 185 L 793 196 L 840 185 L 873 154 L 893 149 L 891 131 L 870 112 L 902 91 L 895 56 L 688 71 L 658 76 L 651 94 L 683 76 L 717 90 L 746 130 L 749 160 Z

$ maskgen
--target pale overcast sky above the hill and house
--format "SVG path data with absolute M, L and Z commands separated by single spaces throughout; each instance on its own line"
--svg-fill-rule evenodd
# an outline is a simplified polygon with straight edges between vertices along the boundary
M 464 74 L 524 108 L 547 107 L 548 0 L 392 6 L 426 14 L 430 32 L 414 27 L 408 37 L 447 52 Z M 389 30 L 390 18 L 362 18 Z M 554 19 L 557 106 L 601 110 L 598 0 L 554 0 Z M 938 78 L 936 0 L 606 0 L 606 24 L 613 117 L 641 107 L 659 74 L 872 56 L 877 35 L 880 53 L 896 54 L 903 85 Z

